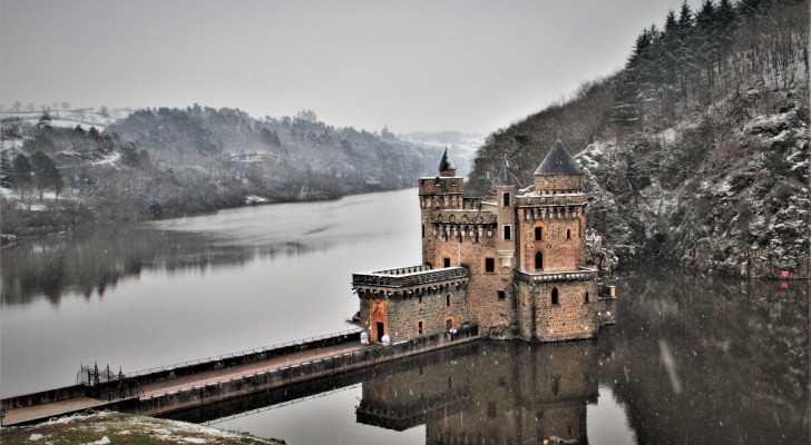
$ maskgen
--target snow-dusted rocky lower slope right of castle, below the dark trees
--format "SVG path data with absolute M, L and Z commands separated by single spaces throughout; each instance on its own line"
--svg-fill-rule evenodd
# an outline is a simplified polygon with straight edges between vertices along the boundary
M 780 93 L 775 111 L 730 132 L 720 103 L 667 137 L 598 141 L 576 156 L 588 178 L 589 226 L 621 257 L 676 260 L 727 275 L 810 276 L 808 105 Z M 795 91 L 793 97 L 804 97 Z

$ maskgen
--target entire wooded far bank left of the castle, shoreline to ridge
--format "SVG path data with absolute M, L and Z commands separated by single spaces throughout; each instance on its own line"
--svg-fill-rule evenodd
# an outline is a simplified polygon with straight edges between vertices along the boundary
M 143 109 L 102 131 L 58 128 L 43 112 L 35 123 L 3 119 L 2 132 L 3 233 L 412 187 L 441 156 L 310 110 Z

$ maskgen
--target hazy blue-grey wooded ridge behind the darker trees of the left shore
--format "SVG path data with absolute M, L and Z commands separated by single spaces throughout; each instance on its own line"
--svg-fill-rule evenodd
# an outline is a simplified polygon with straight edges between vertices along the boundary
M 108 131 L 147 149 L 167 167 L 223 158 L 253 165 L 247 175 L 252 192 L 271 199 L 411 187 L 414 178 L 436 167 L 438 156 L 438 150 L 399 140 L 387 128 L 379 135 L 334 128 L 311 110 L 295 118 L 257 120 L 228 108 L 158 108 L 133 112 Z

